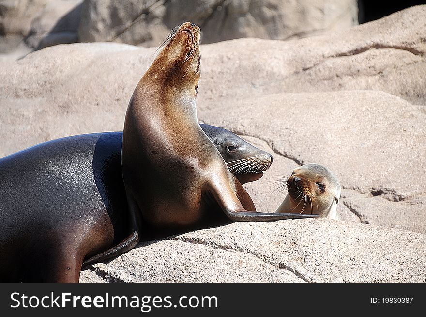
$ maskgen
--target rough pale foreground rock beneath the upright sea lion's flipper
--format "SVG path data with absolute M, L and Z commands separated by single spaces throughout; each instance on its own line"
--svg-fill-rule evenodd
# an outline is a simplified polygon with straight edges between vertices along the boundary
M 83 271 L 80 282 L 425 283 L 426 236 L 315 220 L 189 232 Z

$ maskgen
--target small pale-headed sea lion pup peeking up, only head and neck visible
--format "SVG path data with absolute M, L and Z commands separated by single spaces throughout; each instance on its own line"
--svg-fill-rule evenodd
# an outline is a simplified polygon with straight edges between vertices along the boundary
M 327 167 L 306 164 L 295 168 L 286 186 L 289 193 L 275 213 L 317 214 L 321 218 L 339 219 L 340 183 Z

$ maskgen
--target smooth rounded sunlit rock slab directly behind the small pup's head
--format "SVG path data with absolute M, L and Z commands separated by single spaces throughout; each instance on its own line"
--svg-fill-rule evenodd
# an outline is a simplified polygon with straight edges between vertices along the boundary
M 399 97 L 375 91 L 274 94 L 241 100 L 238 111 L 231 106 L 216 104 L 200 117 L 264 140 L 296 163 L 321 162 L 346 189 L 392 201 L 426 194 L 426 113 Z M 291 172 L 277 167 L 269 174 Z

